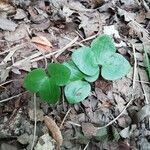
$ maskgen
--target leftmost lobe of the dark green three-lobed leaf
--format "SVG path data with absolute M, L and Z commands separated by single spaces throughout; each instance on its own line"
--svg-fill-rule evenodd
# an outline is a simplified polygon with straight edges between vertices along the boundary
M 38 92 L 49 80 L 44 69 L 35 69 L 27 74 L 23 81 L 23 87 L 30 92 Z

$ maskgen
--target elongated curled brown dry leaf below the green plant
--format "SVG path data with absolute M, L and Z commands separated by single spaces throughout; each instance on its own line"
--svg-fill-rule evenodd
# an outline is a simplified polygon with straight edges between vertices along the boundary
M 59 127 L 57 126 L 57 124 L 55 123 L 55 121 L 48 116 L 44 116 L 44 122 L 45 122 L 47 128 L 52 133 L 52 136 L 55 139 L 55 141 L 57 142 L 58 146 L 61 146 L 62 142 L 63 142 L 63 137 L 62 137 L 61 131 L 60 131 Z

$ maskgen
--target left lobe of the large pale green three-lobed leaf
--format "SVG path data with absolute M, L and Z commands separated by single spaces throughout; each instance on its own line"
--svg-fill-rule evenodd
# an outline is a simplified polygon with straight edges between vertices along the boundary
M 81 47 L 75 50 L 72 54 L 72 60 L 75 65 L 84 74 L 93 76 L 98 71 L 98 65 L 95 64 L 94 53 L 89 47 Z

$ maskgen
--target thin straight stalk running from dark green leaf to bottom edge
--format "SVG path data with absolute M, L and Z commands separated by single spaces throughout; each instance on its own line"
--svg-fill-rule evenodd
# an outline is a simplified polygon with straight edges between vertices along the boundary
M 31 146 L 31 150 L 33 150 L 34 148 L 34 144 L 35 144 L 35 137 L 36 137 L 36 94 L 34 93 L 34 133 L 33 133 L 33 141 L 32 141 L 32 146 Z

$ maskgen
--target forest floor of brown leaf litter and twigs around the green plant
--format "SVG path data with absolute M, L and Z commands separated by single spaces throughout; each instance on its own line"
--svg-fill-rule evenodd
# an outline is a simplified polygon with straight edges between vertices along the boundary
M 149 6 L 148 0 L 0 0 L 0 150 L 58 149 L 61 139 L 48 131 L 45 115 L 61 131 L 61 150 L 150 150 Z M 24 76 L 45 62 L 69 60 L 73 49 L 103 33 L 130 62 L 130 73 L 115 81 L 99 76 L 79 104 L 63 95 L 57 105 L 37 97 L 34 136 L 35 97 L 23 88 Z M 35 37 L 52 46 L 39 47 Z

